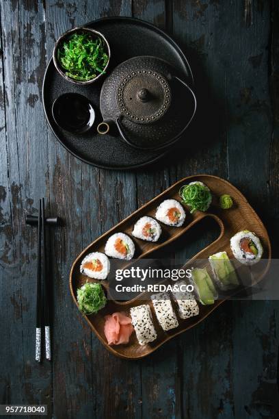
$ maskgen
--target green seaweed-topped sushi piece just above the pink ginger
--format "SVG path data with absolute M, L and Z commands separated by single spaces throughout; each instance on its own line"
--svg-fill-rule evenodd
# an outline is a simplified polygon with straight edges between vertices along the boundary
M 77 303 L 83 314 L 89 316 L 107 304 L 107 298 L 100 283 L 85 283 L 77 290 Z

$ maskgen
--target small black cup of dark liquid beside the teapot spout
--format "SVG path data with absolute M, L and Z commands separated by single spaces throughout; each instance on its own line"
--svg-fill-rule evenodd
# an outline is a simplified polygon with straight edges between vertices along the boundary
M 55 123 L 74 134 L 88 131 L 95 120 L 92 103 L 82 94 L 64 93 L 53 102 L 52 114 Z

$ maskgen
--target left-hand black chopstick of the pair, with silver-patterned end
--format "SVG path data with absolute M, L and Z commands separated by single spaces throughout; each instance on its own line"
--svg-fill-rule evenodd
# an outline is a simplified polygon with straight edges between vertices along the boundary
M 37 260 L 37 301 L 36 301 L 36 361 L 41 360 L 41 335 L 42 335 L 42 313 L 41 313 L 41 237 L 42 237 L 42 204 L 39 201 L 38 216 L 38 260 Z

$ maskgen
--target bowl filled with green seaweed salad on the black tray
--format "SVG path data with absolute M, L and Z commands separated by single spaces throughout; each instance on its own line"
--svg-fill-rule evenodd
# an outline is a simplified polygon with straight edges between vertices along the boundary
M 58 73 L 75 84 L 92 84 L 106 73 L 109 44 L 98 31 L 76 27 L 60 36 L 53 49 Z

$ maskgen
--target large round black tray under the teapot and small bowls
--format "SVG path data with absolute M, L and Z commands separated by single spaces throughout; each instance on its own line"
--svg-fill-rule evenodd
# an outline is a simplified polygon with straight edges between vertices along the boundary
M 135 18 L 112 17 L 103 18 L 85 26 L 100 31 L 107 38 L 111 47 L 109 71 L 120 62 L 136 55 L 155 55 L 168 60 L 177 69 L 181 78 L 185 79 L 190 86 L 193 84 L 191 68 L 181 49 L 170 36 L 150 23 Z M 59 142 L 75 157 L 100 168 L 131 169 L 159 160 L 166 151 L 140 151 L 125 144 L 118 134 L 115 136 L 97 134 L 96 126 L 102 120 L 99 112 L 102 84 L 102 80 L 90 86 L 78 86 L 66 81 L 56 71 L 51 58 L 44 75 L 42 99 L 47 120 Z M 70 134 L 56 125 L 51 108 L 55 99 L 67 92 L 83 94 L 94 105 L 96 121 L 88 133 Z

